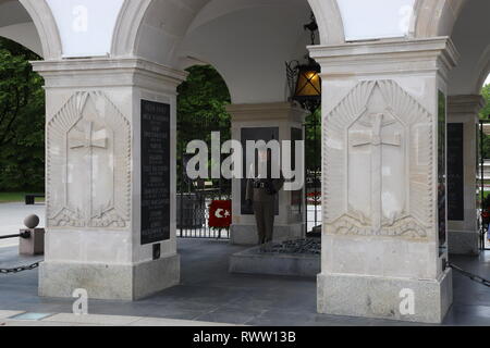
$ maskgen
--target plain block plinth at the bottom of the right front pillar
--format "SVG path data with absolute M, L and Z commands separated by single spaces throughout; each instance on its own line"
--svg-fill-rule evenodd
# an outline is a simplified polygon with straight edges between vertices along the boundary
M 318 275 L 318 312 L 440 324 L 453 301 L 452 270 L 440 281 Z M 414 291 L 415 313 L 401 314 L 403 289 Z

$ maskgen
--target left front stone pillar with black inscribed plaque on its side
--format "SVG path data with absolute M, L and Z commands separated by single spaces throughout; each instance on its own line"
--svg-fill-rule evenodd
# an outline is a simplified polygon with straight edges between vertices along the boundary
M 176 86 L 139 59 L 35 62 L 46 80 L 46 258 L 39 295 L 135 300 L 180 282 Z

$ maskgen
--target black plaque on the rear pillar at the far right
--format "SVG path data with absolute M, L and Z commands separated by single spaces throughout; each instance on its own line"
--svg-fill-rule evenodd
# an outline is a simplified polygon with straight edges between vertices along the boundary
M 463 123 L 448 124 L 448 220 L 465 220 Z

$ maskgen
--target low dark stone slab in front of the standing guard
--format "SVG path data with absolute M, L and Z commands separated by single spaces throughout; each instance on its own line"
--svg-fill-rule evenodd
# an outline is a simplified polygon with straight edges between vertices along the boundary
M 264 253 L 260 247 L 230 258 L 230 273 L 315 277 L 320 273 L 320 256 Z

